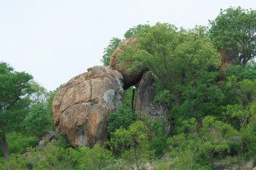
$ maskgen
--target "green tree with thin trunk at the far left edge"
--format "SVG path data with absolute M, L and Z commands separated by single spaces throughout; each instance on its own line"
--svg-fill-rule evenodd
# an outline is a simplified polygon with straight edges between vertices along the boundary
M 8 169 L 6 133 L 17 129 L 26 116 L 26 109 L 30 104 L 29 95 L 32 94 L 31 80 L 31 75 L 14 71 L 8 64 L 0 63 L 0 143 Z

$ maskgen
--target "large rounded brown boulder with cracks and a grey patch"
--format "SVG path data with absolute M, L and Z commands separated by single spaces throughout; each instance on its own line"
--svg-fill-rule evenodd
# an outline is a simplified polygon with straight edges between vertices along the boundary
M 67 133 L 73 146 L 103 144 L 110 111 L 122 105 L 123 77 L 118 71 L 95 66 L 61 87 L 53 101 L 57 132 Z

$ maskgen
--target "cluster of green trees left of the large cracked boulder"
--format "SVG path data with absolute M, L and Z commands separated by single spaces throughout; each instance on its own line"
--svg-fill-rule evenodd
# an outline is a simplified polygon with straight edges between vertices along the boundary
M 27 146 L 34 146 L 36 137 L 49 130 L 52 119 L 44 109 L 47 92 L 32 81 L 31 75 L 1 62 L 0 82 L 0 151 L 10 169 L 9 151 L 23 152 Z M 10 140 L 14 135 L 15 141 Z

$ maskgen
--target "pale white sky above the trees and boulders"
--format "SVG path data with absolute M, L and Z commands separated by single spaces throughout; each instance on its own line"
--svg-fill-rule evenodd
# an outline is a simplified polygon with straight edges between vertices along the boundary
M 138 24 L 208 26 L 220 8 L 256 9 L 255 0 L 0 0 L 0 61 L 54 90 L 102 65 L 112 37 Z M 1 83 L 1 82 L 0 82 Z

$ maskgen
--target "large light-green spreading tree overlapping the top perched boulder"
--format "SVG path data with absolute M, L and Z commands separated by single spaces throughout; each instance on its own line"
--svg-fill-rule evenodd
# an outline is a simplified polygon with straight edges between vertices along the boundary
M 138 34 L 137 48 L 124 47 L 119 63 L 125 67 L 127 62 L 131 63 L 128 71 L 152 71 L 160 91 L 173 92 L 170 97 L 179 103 L 180 86 L 195 80 L 201 71 L 217 71 L 220 57 L 206 36 L 159 23 Z

